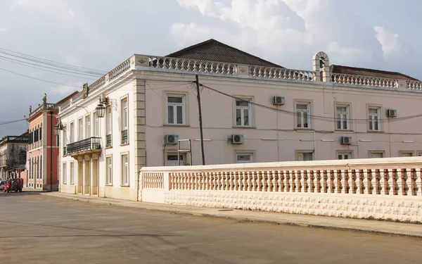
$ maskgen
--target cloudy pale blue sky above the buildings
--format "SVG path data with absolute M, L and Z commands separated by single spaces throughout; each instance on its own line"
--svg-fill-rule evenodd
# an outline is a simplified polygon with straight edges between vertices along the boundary
M 421 10 L 419 0 L 0 0 L 0 49 L 109 71 L 213 38 L 286 68 L 312 70 L 324 51 L 331 64 L 422 80 Z M 1 123 L 27 118 L 44 93 L 55 103 L 96 80 L 1 57 L 0 68 L 0 137 L 25 132 L 26 121 Z

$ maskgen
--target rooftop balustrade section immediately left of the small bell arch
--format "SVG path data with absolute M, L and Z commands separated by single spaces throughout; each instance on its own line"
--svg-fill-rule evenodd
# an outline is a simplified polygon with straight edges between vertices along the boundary
M 314 72 L 311 70 L 290 70 L 260 66 L 250 66 L 249 75 L 254 77 L 268 77 L 283 80 L 302 80 L 309 82 L 314 80 Z

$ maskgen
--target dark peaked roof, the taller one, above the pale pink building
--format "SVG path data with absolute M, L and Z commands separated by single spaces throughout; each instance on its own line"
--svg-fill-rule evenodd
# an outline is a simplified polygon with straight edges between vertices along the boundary
M 222 42 L 217 42 L 215 39 L 209 39 L 206 42 L 188 46 L 185 49 L 167 55 L 167 57 L 283 68 L 280 65 L 265 61 L 240 49 L 235 49 Z

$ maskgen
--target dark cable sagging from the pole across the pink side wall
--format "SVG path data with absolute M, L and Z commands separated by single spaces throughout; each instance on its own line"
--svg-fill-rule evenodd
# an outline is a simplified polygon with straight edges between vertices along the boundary
M 212 90 L 214 92 L 217 92 L 219 94 L 223 94 L 224 96 L 229 96 L 229 97 L 231 97 L 233 99 L 236 99 L 238 101 L 244 101 L 244 102 L 250 103 L 250 104 L 252 104 L 254 106 L 260 106 L 262 108 L 267 108 L 267 109 L 272 110 L 272 111 L 278 111 L 278 112 L 281 112 L 281 113 L 286 113 L 288 115 L 294 115 L 294 116 L 297 116 L 298 113 L 300 113 L 300 112 L 286 111 L 286 110 L 283 110 L 283 109 L 278 109 L 278 108 L 274 108 L 274 107 L 271 107 L 271 106 L 265 106 L 265 105 L 262 105 L 260 103 L 255 103 L 255 102 L 252 102 L 252 101 L 248 101 L 248 100 L 239 98 L 237 96 L 233 96 L 231 94 L 227 94 L 225 92 L 219 91 L 218 89 L 215 89 L 215 88 L 212 88 L 212 87 L 208 87 L 208 86 L 206 86 L 204 84 L 200 84 L 200 86 L 205 87 L 207 89 L 210 89 L 210 90 Z M 404 116 L 402 118 L 394 118 L 394 119 L 390 120 L 390 122 L 396 122 L 396 121 L 400 121 L 400 120 L 408 120 L 408 119 L 412 119 L 412 118 L 418 118 L 418 117 L 421 117 L 421 116 L 422 116 L 422 113 L 421 114 L 417 114 L 417 115 L 409 115 L 409 116 Z M 328 122 L 337 122 L 338 121 L 338 118 L 328 118 L 328 117 L 319 116 L 319 115 L 309 115 L 309 118 L 312 118 L 313 120 L 321 120 L 321 121 L 328 121 Z M 347 119 L 347 120 L 349 120 L 350 122 L 361 122 L 361 123 L 364 123 L 364 122 L 366 123 L 366 122 L 369 122 L 369 121 L 373 121 L 373 120 L 369 120 L 369 119 L 352 119 L 352 118 Z M 388 119 L 380 118 L 378 121 L 379 122 L 383 122 L 385 120 L 388 120 Z

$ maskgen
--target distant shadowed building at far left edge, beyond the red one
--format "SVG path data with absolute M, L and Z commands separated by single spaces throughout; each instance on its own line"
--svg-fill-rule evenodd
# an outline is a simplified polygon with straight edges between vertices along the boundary
M 23 178 L 26 182 L 26 149 L 28 132 L 20 136 L 6 136 L 0 139 L 0 178 Z

